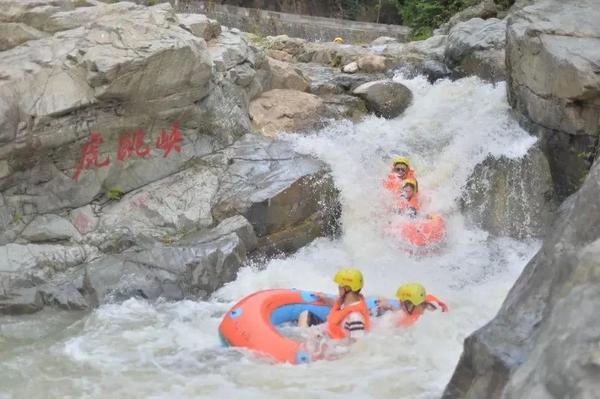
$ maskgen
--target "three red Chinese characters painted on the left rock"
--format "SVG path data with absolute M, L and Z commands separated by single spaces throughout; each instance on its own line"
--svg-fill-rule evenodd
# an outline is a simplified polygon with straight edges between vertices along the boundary
M 121 162 L 127 161 L 133 156 L 146 158 L 150 155 L 151 148 L 145 143 L 145 132 L 138 129 L 135 132 L 126 132 L 119 137 L 119 147 L 117 149 L 117 159 Z M 160 130 L 160 135 L 156 140 L 156 148 L 163 151 L 163 158 L 169 156 L 172 151 L 181 152 L 183 136 L 179 130 L 179 124 L 174 124 L 171 132 L 167 133 L 165 129 Z M 110 157 L 107 156 L 103 161 L 99 161 L 100 145 L 104 139 L 99 133 L 92 132 L 88 141 L 81 149 L 81 159 L 73 175 L 73 180 L 79 181 L 81 172 L 92 167 L 104 168 L 110 165 Z

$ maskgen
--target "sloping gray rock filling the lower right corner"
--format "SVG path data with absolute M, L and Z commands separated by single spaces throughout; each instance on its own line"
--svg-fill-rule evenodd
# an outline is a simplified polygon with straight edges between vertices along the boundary
M 465 340 L 444 398 L 597 396 L 599 196 L 596 162 L 498 315 Z

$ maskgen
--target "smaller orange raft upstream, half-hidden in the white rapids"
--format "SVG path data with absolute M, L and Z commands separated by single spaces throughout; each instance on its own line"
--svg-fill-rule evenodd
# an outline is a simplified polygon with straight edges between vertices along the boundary
M 446 238 L 446 223 L 440 214 L 432 213 L 423 219 L 392 222 L 386 234 L 412 245 L 416 249 L 436 247 Z

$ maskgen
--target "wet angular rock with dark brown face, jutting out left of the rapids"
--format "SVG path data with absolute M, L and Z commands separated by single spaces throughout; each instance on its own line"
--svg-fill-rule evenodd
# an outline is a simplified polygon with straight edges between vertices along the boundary
M 304 244 L 337 229 L 337 191 L 320 162 L 260 136 L 246 136 L 219 156 L 229 167 L 213 208 L 218 220 L 244 215 L 260 239 L 310 219 L 314 235 Z

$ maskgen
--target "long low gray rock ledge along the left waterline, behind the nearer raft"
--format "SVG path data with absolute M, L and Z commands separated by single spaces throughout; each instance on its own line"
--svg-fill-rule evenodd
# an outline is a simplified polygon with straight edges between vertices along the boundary
M 247 225 L 232 223 L 229 227 L 245 234 L 251 246 Z M 86 289 L 98 304 L 134 296 L 174 300 L 206 297 L 233 280 L 246 259 L 244 240 L 235 231 L 226 230 L 221 226 L 220 231 L 206 234 L 204 241 L 195 237 L 177 245 L 131 248 L 99 259 L 86 266 Z

